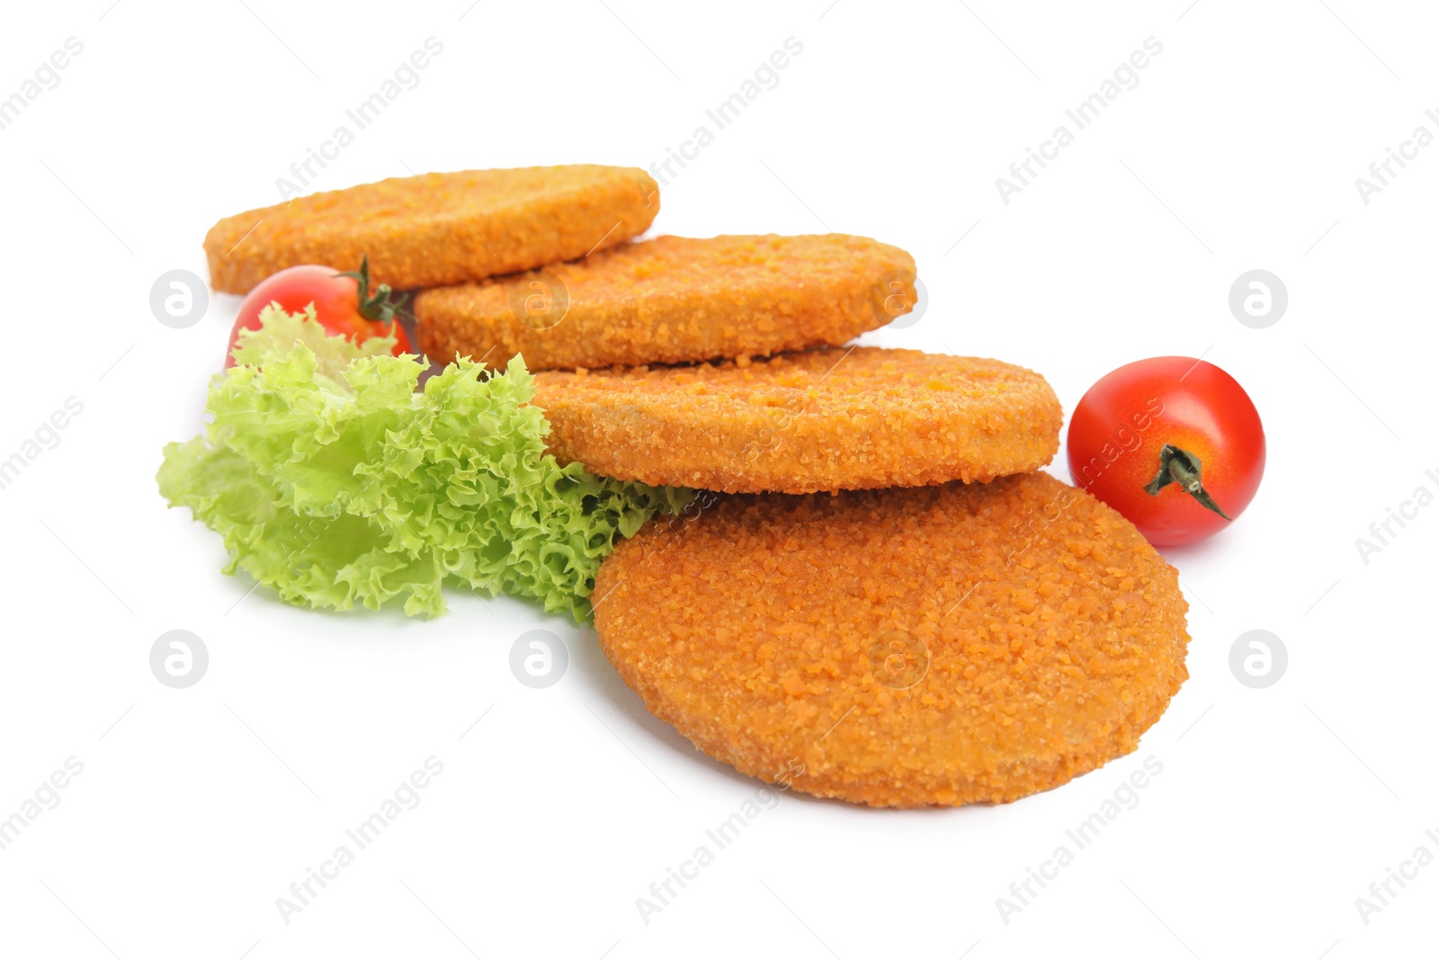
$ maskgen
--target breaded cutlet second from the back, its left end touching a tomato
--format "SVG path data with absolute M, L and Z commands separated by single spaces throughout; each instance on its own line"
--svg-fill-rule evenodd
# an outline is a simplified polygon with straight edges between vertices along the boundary
M 530 370 L 688 363 L 842 344 L 915 304 L 914 258 L 862 236 L 662 236 L 577 263 L 432 289 L 432 360 Z

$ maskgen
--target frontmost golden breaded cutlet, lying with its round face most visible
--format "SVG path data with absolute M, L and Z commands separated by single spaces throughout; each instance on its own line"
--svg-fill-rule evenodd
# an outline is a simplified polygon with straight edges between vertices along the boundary
M 1174 569 L 1046 474 L 721 495 L 616 547 L 593 599 L 610 664 L 699 750 L 872 806 L 1059 786 L 1189 676 Z

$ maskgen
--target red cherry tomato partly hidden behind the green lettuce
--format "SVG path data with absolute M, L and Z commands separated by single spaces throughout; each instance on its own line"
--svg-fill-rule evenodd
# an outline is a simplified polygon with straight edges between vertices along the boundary
M 235 366 L 233 350 L 240 331 L 259 330 L 260 311 L 271 304 L 279 304 L 288 314 L 298 314 L 314 304 L 315 320 L 331 334 L 350 337 L 357 344 L 393 334 L 394 356 L 412 353 L 409 334 L 394 320 L 400 301 L 386 284 L 370 286 L 368 259 L 361 261 L 360 269 L 353 273 L 307 263 L 266 276 L 245 295 L 224 351 L 226 367 Z

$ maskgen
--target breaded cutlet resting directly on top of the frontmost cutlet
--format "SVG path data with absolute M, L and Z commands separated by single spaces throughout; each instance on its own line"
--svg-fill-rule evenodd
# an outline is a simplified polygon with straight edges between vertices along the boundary
M 1033 471 L 1062 412 L 997 360 L 853 347 L 718 366 L 541 373 L 550 452 L 616 479 L 737 494 L 922 486 Z

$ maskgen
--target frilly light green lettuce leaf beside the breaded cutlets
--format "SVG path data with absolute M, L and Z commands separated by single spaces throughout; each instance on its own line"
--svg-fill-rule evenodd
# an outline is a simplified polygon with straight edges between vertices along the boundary
M 155 479 L 223 537 L 226 573 L 289 603 L 436 616 L 453 583 L 584 622 L 617 538 L 692 498 L 560 466 L 519 357 L 501 376 L 458 360 L 416 393 L 427 364 L 393 341 L 355 347 L 278 307 L 262 324 L 210 384 L 213 423 L 165 446 Z

